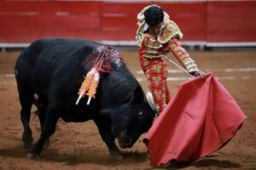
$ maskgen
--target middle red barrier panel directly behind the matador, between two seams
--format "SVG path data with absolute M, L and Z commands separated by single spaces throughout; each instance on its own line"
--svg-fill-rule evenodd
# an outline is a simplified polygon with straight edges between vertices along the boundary
M 102 3 L 102 37 L 107 40 L 134 41 L 137 14 L 149 3 Z M 177 22 L 184 41 L 204 41 L 206 3 L 157 3 Z

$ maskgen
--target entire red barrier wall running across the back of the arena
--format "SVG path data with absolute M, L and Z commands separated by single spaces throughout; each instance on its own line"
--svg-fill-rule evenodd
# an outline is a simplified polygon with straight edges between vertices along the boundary
M 256 1 L 0 1 L 0 45 L 41 37 L 136 44 L 137 13 L 157 3 L 183 31 L 183 42 L 256 45 Z

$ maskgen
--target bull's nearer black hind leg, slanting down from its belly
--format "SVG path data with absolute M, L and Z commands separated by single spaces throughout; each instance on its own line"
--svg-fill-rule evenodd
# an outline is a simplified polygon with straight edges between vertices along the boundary
M 43 150 L 45 141 L 55 132 L 56 123 L 59 119 L 59 113 L 61 112 L 61 107 L 49 106 L 46 111 L 43 128 L 41 130 L 38 142 L 33 145 L 32 150 L 29 151 L 27 158 L 32 159 L 40 155 Z

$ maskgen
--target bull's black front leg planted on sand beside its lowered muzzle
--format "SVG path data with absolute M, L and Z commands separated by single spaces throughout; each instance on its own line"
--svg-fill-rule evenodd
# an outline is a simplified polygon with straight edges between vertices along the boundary
M 115 138 L 113 136 L 113 133 L 111 133 L 110 125 L 106 124 L 106 122 L 96 122 L 96 125 L 98 127 L 99 133 L 102 136 L 103 141 L 108 146 L 110 155 L 119 160 L 123 159 L 119 148 L 114 143 Z

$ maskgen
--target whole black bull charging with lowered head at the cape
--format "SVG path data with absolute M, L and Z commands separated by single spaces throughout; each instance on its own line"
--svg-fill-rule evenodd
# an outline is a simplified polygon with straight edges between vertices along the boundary
M 22 140 L 30 148 L 29 158 L 41 153 L 59 118 L 65 122 L 93 120 L 112 156 L 121 156 L 115 138 L 122 148 L 131 147 L 152 125 L 154 111 L 143 89 L 113 48 L 116 53 L 110 54 L 109 74 L 102 74 L 96 99 L 86 105 L 85 97 L 75 105 L 81 82 L 95 61 L 91 54 L 99 48 L 102 45 L 86 40 L 42 39 L 20 54 L 15 77 L 24 127 Z M 32 145 L 29 122 L 35 94 L 41 134 Z

